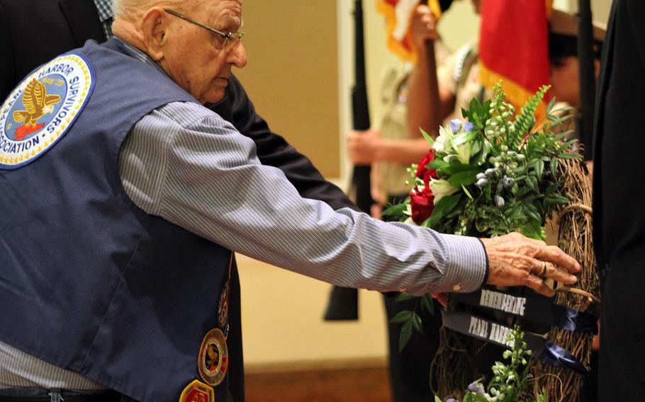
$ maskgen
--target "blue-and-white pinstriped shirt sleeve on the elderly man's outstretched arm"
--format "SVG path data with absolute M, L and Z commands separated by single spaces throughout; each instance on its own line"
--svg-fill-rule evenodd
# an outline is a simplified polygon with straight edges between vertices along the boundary
M 486 275 L 478 239 L 386 223 L 303 198 L 254 143 L 194 103 L 138 122 L 120 154 L 135 205 L 271 265 L 343 287 L 471 292 Z

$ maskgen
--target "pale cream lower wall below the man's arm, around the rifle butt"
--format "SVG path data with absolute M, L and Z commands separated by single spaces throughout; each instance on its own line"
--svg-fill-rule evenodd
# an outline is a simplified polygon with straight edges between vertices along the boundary
M 245 362 L 270 364 L 386 356 L 381 294 L 361 290 L 359 321 L 322 321 L 330 285 L 237 256 Z

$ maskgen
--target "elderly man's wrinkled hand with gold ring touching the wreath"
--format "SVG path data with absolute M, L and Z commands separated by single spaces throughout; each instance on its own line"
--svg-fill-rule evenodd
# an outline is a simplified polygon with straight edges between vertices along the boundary
M 544 241 L 519 233 L 481 241 L 488 254 L 490 285 L 527 286 L 551 297 L 554 291 L 544 283 L 544 278 L 566 285 L 578 281 L 569 272 L 580 272 L 580 264 L 556 246 L 546 246 Z

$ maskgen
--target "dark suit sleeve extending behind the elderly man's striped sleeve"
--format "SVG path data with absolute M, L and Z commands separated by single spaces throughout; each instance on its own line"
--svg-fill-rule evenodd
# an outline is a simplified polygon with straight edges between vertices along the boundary
M 306 156 L 271 132 L 267 122 L 255 113 L 246 91 L 235 76 L 229 80 L 225 100 L 215 105 L 213 110 L 221 112 L 220 115 L 232 122 L 239 132 L 253 139 L 262 164 L 281 169 L 302 197 L 321 200 L 333 209 L 350 207 L 358 210 L 340 188 L 322 177 Z

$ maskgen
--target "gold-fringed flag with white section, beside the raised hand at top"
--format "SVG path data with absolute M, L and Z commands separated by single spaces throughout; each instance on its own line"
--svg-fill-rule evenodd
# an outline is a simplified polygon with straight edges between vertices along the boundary
M 412 44 L 410 17 L 422 0 L 376 0 L 376 10 L 386 18 L 388 48 L 407 62 L 416 62 L 417 54 Z M 437 17 L 441 18 L 452 0 L 428 0 L 427 5 Z

